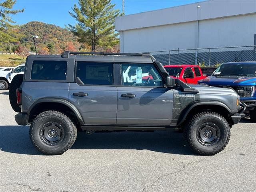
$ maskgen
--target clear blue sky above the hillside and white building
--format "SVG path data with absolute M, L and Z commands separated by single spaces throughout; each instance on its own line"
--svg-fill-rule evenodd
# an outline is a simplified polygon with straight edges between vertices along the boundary
M 134 14 L 172 6 L 179 6 L 200 0 L 125 0 L 125 14 Z M 76 21 L 68 11 L 78 0 L 17 0 L 14 9 L 22 9 L 23 13 L 12 16 L 16 24 L 25 24 L 30 21 L 41 21 L 65 27 L 65 24 L 75 24 Z M 122 0 L 112 0 L 116 9 L 122 11 Z

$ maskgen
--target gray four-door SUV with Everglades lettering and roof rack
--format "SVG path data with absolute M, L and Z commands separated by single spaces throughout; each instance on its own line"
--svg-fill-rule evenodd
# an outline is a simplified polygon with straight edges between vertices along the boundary
M 16 122 L 30 125 L 34 146 L 51 155 L 68 150 L 78 130 L 170 128 L 183 130 L 197 154 L 214 155 L 241 118 L 234 90 L 174 79 L 151 54 L 30 55 L 24 76 L 10 86 L 10 102 Z

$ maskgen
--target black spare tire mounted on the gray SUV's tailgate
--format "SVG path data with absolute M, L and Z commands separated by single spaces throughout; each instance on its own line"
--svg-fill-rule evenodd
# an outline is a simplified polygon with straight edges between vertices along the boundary
M 23 80 L 23 74 L 18 74 L 14 76 L 12 79 L 12 82 L 10 83 L 10 88 L 9 88 L 9 101 L 12 106 L 12 109 L 15 112 L 20 113 L 20 106 L 17 104 L 17 93 L 16 89 L 20 88 Z

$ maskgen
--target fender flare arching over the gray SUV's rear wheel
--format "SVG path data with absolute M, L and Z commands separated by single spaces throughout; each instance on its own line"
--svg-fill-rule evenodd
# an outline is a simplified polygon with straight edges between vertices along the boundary
M 39 103 L 48 103 L 48 102 L 52 102 L 52 103 L 60 103 L 60 104 L 64 104 L 66 105 L 68 108 L 70 108 L 72 110 L 72 112 L 74 112 L 74 114 L 76 115 L 76 117 L 78 118 L 78 121 L 80 122 L 81 125 L 84 124 L 84 120 L 80 114 L 80 112 L 78 111 L 78 109 L 70 102 L 68 102 L 65 99 L 61 99 L 61 98 L 42 98 L 42 99 L 38 99 L 36 102 L 34 102 L 30 108 L 28 109 L 28 115 L 30 114 L 31 110 L 34 108 L 34 106 L 36 106 Z

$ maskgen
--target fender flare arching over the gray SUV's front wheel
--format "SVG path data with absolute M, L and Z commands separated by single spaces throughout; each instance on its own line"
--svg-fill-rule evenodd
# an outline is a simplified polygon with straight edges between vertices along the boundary
M 195 112 L 202 112 L 211 110 L 213 112 L 217 112 L 224 116 L 226 120 L 229 120 L 230 116 L 232 115 L 232 111 L 226 104 L 219 102 L 219 101 L 197 101 L 193 102 L 192 104 L 188 105 L 180 115 L 178 119 L 178 126 L 181 126 L 188 116 L 194 114 Z

